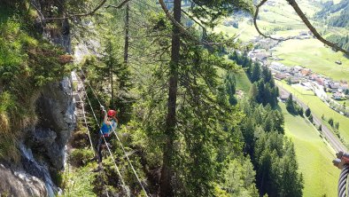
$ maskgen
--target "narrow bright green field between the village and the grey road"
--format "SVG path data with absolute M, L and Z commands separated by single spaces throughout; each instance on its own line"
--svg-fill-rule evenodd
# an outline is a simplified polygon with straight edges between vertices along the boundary
M 279 81 L 275 81 L 275 83 L 281 84 Z M 316 117 L 321 118 L 324 114 L 326 120 L 332 117 L 334 122 L 339 122 L 340 136 L 345 139 L 346 144 L 349 143 L 349 118 L 332 110 L 320 98 L 314 96 L 312 91 L 302 91 L 299 87 L 293 88 L 293 86 L 291 87 L 286 83 L 283 83 L 283 88 L 296 95 L 297 98 L 309 106 Z

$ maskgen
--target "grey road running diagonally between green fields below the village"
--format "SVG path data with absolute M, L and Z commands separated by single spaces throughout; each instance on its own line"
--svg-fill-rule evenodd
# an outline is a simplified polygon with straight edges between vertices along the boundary
M 282 86 L 276 84 L 277 87 L 279 88 L 279 91 L 280 91 L 280 94 L 285 94 L 287 95 L 287 97 L 290 95 L 290 91 L 287 91 L 285 90 Z M 306 111 L 306 104 L 303 103 L 301 100 L 299 100 L 299 98 L 295 97 L 294 95 L 292 95 L 292 98 L 294 100 L 297 101 L 297 103 L 299 103 L 300 106 L 303 107 L 304 111 Z M 335 151 L 343 151 L 343 152 L 346 152 L 346 148 L 345 146 L 342 144 L 342 142 L 335 136 L 335 134 L 332 133 L 332 131 L 322 123 L 322 120 L 319 119 L 319 117 L 316 117 L 314 114 L 313 114 L 313 120 L 314 120 L 314 123 L 317 127 L 319 127 L 319 125 L 321 124 L 322 125 L 322 134 L 325 138 L 327 138 L 330 142 L 330 145 L 333 147 L 333 149 Z

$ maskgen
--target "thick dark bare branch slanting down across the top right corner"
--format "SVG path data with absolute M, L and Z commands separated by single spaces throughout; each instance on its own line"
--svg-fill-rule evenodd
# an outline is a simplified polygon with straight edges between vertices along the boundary
M 330 41 L 326 40 L 325 38 L 322 37 L 322 35 L 320 35 L 316 29 L 314 28 L 314 26 L 309 22 L 309 20 L 307 20 L 306 15 L 302 12 L 302 10 L 300 10 L 299 8 L 299 4 L 296 3 L 295 0 L 287 0 L 287 2 L 289 4 L 291 4 L 291 6 L 293 7 L 294 11 L 297 12 L 297 14 L 299 15 L 299 18 L 301 20 L 303 20 L 304 24 L 306 24 L 306 27 L 309 28 L 309 30 L 313 33 L 313 35 L 322 43 L 332 47 L 333 49 L 335 49 L 336 51 L 342 51 L 344 52 L 346 55 L 349 55 L 349 51 L 345 51 L 343 48 L 339 47 L 336 43 L 331 43 Z

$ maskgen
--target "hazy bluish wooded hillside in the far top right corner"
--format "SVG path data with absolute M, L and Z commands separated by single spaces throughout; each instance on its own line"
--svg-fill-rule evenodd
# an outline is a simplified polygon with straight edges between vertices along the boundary
M 315 19 L 327 20 L 327 24 L 332 27 L 349 27 L 349 1 L 342 0 L 339 4 L 329 1 L 322 5 L 322 11 L 314 15 Z

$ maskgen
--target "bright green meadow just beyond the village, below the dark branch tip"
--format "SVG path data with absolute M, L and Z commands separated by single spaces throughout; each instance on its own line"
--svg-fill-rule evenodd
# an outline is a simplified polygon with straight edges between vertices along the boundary
M 316 39 L 285 41 L 276 48 L 275 55 L 284 59 L 280 62 L 286 66 L 308 67 L 315 73 L 330 76 L 334 80 L 349 79 L 349 59 L 341 52 L 324 47 Z M 336 60 L 342 61 L 342 65 L 337 65 Z

